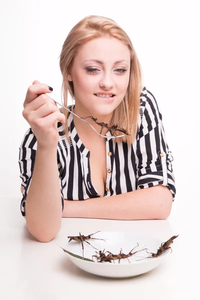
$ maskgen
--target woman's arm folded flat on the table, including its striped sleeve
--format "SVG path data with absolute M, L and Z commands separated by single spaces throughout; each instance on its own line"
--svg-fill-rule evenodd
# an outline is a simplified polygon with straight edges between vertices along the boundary
M 143 89 L 135 155 L 137 190 L 85 201 L 64 200 L 63 217 L 165 219 L 175 196 L 173 160 L 154 96 Z M 134 163 L 134 161 L 132 162 Z

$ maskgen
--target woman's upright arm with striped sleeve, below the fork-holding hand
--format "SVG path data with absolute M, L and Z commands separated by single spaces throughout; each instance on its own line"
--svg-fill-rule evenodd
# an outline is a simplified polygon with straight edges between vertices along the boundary
M 30 137 L 25 140 L 30 141 Z M 50 241 L 60 229 L 63 207 L 57 148 L 43 149 L 37 145 L 37 150 L 34 150 L 22 144 L 19 149 L 20 177 L 23 181 L 21 213 L 29 232 L 37 240 Z

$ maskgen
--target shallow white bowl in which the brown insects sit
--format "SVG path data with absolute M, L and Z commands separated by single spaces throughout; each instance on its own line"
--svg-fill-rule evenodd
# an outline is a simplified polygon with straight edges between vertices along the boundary
M 148 252 L 156 253 L 163 241 L 149 235 L 134 234 L 128 231 L 99 231 L 94 236 L 96 238 L 102 238 L 105 241 L 95 239 L 89 240 L 89 243 L 98 250 L 95 250 L 91 245 L 83 242 L 84 259 L 87 258 L 88 260 L 82 259 L 82 246 L 80 242 L 71 240 L 64 244 L 63 250 L 78 255 L 79 258 L 66 252 L 67 258 L 69 258 L 77 267 L 101 277 L 128 278 L 138 276 L 154 269 L 163 262 L 166 255 L 170 252 L 170 250 L 167 249 L 158 257 L 139 260 L 149 256 L 149 253 L 146 252 L 145 248 L 147 248 Z M 132 252 L 130 252 L 131 249 L 133 249 Z M 109 251 L 114 254 L 134 254 L 129 254 L 127 258 L 121 258 L 120 261 L 117 258 L 111 260 L 111 262 L 99 262 L 100 260 L 97 259 L 98 254 L 103 251 Z M 96 255 L 97 257 L 94 257 L 93 255 Z

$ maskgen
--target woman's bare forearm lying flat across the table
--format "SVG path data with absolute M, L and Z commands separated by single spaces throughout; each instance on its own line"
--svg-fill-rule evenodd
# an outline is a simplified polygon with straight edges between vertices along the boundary
M 165 219 L 170 213 L 171 203 L 171 192 L 159 184 L 109 197 L 64 200 L 62 217 Z

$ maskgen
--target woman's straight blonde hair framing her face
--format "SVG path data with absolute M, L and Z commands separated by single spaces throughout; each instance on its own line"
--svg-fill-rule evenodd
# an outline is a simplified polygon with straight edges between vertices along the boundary
M 67 92 L 69 92 L 72 99 L 74 99 L 73 82 L 67 80 L 67 73 L 71 70 L 76 53 L 81 45 L 87 41 L 105 35 L 119 39 L 127 45 L 130 51 L 130 74 L 128 87 L 123 100 L 113 111 L 110 124 L 117 124 L 119 128 L 124 128 L 129 134 L 131 134 L 124 134 L 124 137 L 114 138 L 116 142 L 123 141 L 131 143 L 136 137 L 138 128 L 139 96 L 142 91 L 142 69 L 130 38 L 111 18 L 98 15 L 86 16 L 76 23 L 68 33 L 59 55 L 59 66 L 62 73 L 61 90 L 64 100 L 63 105 L 67 107 Z M 67 114 L 69 112 L 64 109 L 63 113 L 66 118 L 64 133 L 68 137 Z M 112 135 L 123 134 L 121 131 L 117 130 L 110 131 Z

